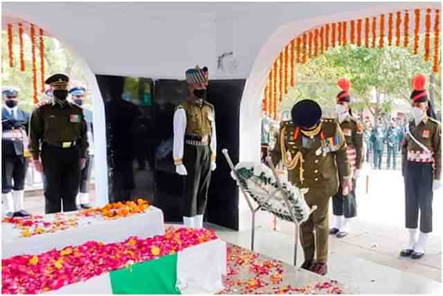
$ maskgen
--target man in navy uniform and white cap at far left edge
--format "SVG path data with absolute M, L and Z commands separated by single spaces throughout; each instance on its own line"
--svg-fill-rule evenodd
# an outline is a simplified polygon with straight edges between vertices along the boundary
M 24 210 L 24 185 L 28 171 L 29 113 L 17 105 L 19 90 L 4 87 L 1 91 L 1 195 L 7 216 L 29 216 Z M 14 182 L 12 182 L 14 181 Z

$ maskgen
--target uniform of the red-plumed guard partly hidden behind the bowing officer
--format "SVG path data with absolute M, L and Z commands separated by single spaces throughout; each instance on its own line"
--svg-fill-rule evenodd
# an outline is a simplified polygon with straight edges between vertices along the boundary
M 340 123 L 341 130 L 345 134 L 347 144 L 347 158 L 352 171 L 361 169 L 363 166 L 363 126 L 354 117 L 348 115 Z M 343 195 L 343 180 L 340 179 L 338 192 L 332 197 L 332 211 L 335 216 L 353 218 L 357 215 L 355 180 L 352 182 L 352 190 Z

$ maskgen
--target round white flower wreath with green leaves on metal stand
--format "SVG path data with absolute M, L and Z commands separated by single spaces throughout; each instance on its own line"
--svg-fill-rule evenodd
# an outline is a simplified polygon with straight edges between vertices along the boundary
M 242 184 L 251 198 L 260 204 L 263 210 L 271 212 L 278 218 L 293 222 L 291 212 L 287 208 L 271 168 L 262 163 L 239 162 L 235 166 L 235 171 L 239 176 L 237 182 Z M 232 171 L 231 177 L 236 180 Z M 299 189 L 289 182 L 282 182 L 282 187 L 287 193 L 298 223 L 305 222 L 310 214 L 304 197 L 308 189 Z M 273 195 L 273 193 L 275 194 Z

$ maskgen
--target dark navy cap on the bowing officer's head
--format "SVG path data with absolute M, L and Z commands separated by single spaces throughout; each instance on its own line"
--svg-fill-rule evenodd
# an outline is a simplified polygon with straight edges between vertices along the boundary
M 311 128 L 317 125 L 322 116 L 318 103 L 312 100 L 302 100 L 293 105 L 291 110 L 292 122 L 300 128 Z

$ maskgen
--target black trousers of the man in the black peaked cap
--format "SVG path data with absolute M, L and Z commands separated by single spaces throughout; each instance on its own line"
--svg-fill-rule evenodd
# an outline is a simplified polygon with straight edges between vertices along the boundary
M 80 150 L 78 146 L 59 148 L 46 143 L 42 146 L 45 175 L 45 212 L 76 211 L 75 197 L 80 183 Z

